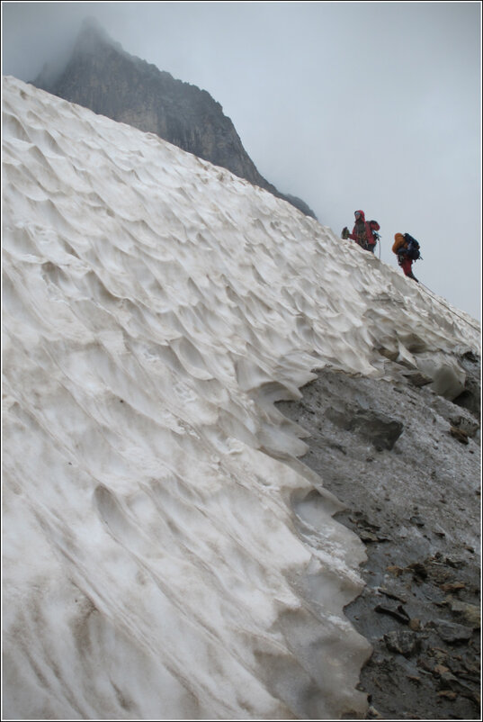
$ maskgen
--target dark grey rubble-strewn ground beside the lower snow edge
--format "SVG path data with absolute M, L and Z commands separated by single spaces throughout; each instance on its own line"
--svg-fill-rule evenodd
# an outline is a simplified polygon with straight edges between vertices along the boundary
M 460 362 L 467 405 L 405 372 L 331 368 L 277 402 L 366 548 L 366 587 L 345 613 L 373 649 L 360 678 L 370 719 L 481 719 L 480 359 Z

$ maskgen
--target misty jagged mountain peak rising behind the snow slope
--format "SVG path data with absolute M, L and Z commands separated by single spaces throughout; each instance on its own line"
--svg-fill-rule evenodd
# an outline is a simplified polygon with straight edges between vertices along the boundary
M 209 93 L 129 55 L 91 21 L 85 22 L 67 66 L 54 77 L 44 68 L 31 84 L 139 131 L 156 133 L 316 217 L 306 203 L 281 194 L 258 173 L 233 123 Z

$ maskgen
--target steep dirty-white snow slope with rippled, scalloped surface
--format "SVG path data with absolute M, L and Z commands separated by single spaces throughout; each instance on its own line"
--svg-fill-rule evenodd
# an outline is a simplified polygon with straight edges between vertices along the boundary
M 479 326 L 152 134 L 4 78 L 4 718 L 338 718 L 358 537 L 274 407 Z

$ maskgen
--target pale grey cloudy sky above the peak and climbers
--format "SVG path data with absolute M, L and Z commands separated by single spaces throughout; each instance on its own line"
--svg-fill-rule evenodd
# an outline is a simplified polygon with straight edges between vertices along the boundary
M 422 243 L 417 277 L 480 318 L 481 5 L 3 3 L 3 74 L 33 79 L 96 17 L 207 90 L 262 175 L 340 233 L 362 208 Z

